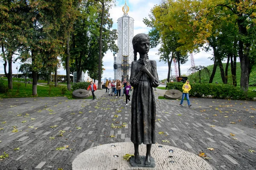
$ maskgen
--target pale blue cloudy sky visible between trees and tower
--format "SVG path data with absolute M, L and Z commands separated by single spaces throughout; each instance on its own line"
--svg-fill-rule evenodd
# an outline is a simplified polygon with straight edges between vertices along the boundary
M 130 11 L 128 11 L 128 16 L 134 18 L 134 36 L 139 33 L 145 33 L 148 34 L 151 28 L 148 28 L 143 23 L 143 18 L 148 17 L 148 14 L 150 14 L 151 8 L 154 7 L 154 5 L 157 5 L 160 3 L 160 0 L 126 0 L 126 4 L 129 6 Z M 117 20 L 119 17 L 123 16 L 122 12 L 122 6 L 125 5 L 125 0 L 116 0 L 116 6 L 113 6 L 110 10 L 110 17 L 113 19 L 113 27 L 112 29 L 117 29 Z M 116 41 L 117 45 L 117 41 Z M 168 65 L 167 63 L 160 62 L 159 61 L 159 55 L 157 55 L 158 48 L 160 45 L 158 45 L 156 48 L 150 48 L 148 52 L 149 59 L 156 60 L 157 61 L 157 73 L 159 80 L 166 79 L 168 74 Z M 208 66 L 212 65 L 213 61 L 209 59 L 209 57 L 212 56 L 212 51 L 205 52 L 201 51 L 198 54 L 193 53 L 195 65 L 203 65 Z M 113 53 L 111 51 L 107 51 L 105 56 L 102 59 L 103 61 L 103 68 L 105 68 L 105 71 L 103 72 L 102 79 L 105 77 L 112 79 L 114 78 L 114 71 L 113 71 L 113 62 L 114 57 Z M 188 69 L 191 67 L 191 61 L 189 57 L 189 61 L 186 64 L 180 65 L 181 74 L 188 75 Z M 12 64 L 12 72 L 13 74 L 17 74 L 17 69 L 20 67 L 20 62 L 16 62 Z M 63 68 L 59 68 L 58 72 L 62 75 L 66 75 L 66 71 Z M 0 74 L 4 74 L 3 70 L 3 62 L 0 61 Z M 172 64 L 172 75 L 175 74 L 175 69 Z M 85 74 L 85 77 L 87 77 L 87 74 Z

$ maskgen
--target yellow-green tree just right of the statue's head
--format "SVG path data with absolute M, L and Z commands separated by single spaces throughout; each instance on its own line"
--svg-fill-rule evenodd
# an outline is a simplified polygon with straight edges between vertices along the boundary
M 169 16 L 169 4 L 167 1 L 162 1 L 159 6 L 154 6 L 151 9 L 151 14 L 149 14 L 149 19 L 144 18 L 143 22 L 151 27 L 149 36 L 151 38 L 152 47 L 156 47 L 158 43 L 161 44 L 158 54 L 160 55 L 160 61 L 167 62 L 168 64 L 168 75 L 167 80 L 169 82 L 172 59 L 176 58 L 178 62 L 178 70 L 180 75 L 180 64 L 187 62 L 187 50 L 180 48 L 182 43 L 180 43 L 179 32 L 172 30 L 166 24 L 168 22 L 166 19 Z M 180 49 L 179 49 L 180 48 Z

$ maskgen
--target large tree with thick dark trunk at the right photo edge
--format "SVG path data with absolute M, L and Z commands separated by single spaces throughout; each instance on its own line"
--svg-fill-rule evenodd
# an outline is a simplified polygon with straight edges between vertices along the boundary
M 241 63 L 241 80 L 240 87 L 247 91 L 249 85 L 249 75 L 256 60 L 251 56 L 252 46 L 255 39 L 255 21 L 256 21 L 256 1 L 241 1 L 241 0 L 223 0 L 216 2 L 216 7 L 222 6 L 229 9 L 236 16 L 238 26 L 238 45 L 239 59 Z

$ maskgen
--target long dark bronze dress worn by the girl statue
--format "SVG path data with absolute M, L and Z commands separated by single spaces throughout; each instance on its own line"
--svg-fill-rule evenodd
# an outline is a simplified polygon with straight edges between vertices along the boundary
M 143 66 L 142 59 L 131 63 L 130 83 L 134 88 L 131 101 L 131 142 L 134 144 L 155 143 L 156 104 L 152 87 L 156 88 L 159 81 L 156 61 L 149 60 L 146 64 L 154 77 L 153 82 L 150 82 L 145 73 L 140 79 L 135 78 Z

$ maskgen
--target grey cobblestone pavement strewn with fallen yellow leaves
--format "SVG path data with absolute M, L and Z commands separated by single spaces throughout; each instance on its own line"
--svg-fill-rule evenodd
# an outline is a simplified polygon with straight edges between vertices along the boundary
M 256 151 L 256 102 L 190 98 L 188 108 L 186 101 L 181 107 L 180 101 L 158 99 L 164 92 L 154 91 L 157 143 L 194 154 L 202 151 L 214 170 L 256 169 L 256 152 L 249 151 Z M 0 160 L 0 169 L 71 170 L 72 161 L 84 150 L 129 142 L 130 103 L 125 106 L 125 96 L 109 96 L 105 90 L 95 94 L 96 100 L 0 99 L 0 156 L 9 154 Z M 127 125 L 111 127 L 123 123 Z

